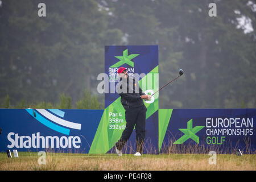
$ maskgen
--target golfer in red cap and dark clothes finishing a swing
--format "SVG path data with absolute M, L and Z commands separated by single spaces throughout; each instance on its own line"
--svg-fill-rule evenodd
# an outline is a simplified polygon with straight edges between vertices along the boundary
M 136 130 L 135 156 L 143 154 L 143 143 L 145 138 L 146 111 L 144 100 L 150 100 L 151 96 L 145 95 L 135 78 L 129 77 L 126 68 L 118 69 L 120 82 L 118 83 L 118 94 L 121 96 L 121 103 L 125 108 L 126 127 L 121 138 L 115 143 L 117 155 L 122 156 L 122 148 L 133 133 L 134 125 Z

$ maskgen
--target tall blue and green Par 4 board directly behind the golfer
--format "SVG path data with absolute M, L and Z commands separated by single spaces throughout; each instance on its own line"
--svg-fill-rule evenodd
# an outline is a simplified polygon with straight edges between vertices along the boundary
M 129 77 L 135 78 L 145 94 L 152 94 L 158 90 L 158 46 L 105 46 L 105 110 L 104 120 L 100 122 L 93 152 L 106 152 L 117 142 L 126 126 L 125 109 L 117 93 L 120 81 L 117 70 L 125 67 Z M 158 93 L 150 101 L 144 101 L 146 112 L 146 138 L 144 152 L 158 153 Z M 106 122 L 107 121 L 107 122 Z M 114 123 L 113 123 L 114 121 Z M 106 139 L 107 138 L 107 139 Z M 106 140 L 108 142 L 106 142 Z M 98 145 L 104 150 L 98 151 Z M 135 131 L 129 139 L 129 149 L 125 153 L 136 152 Z M 127 145 L 126 145 L 127 147 Z M 96 149 L 97 148 L 97 149 Z

